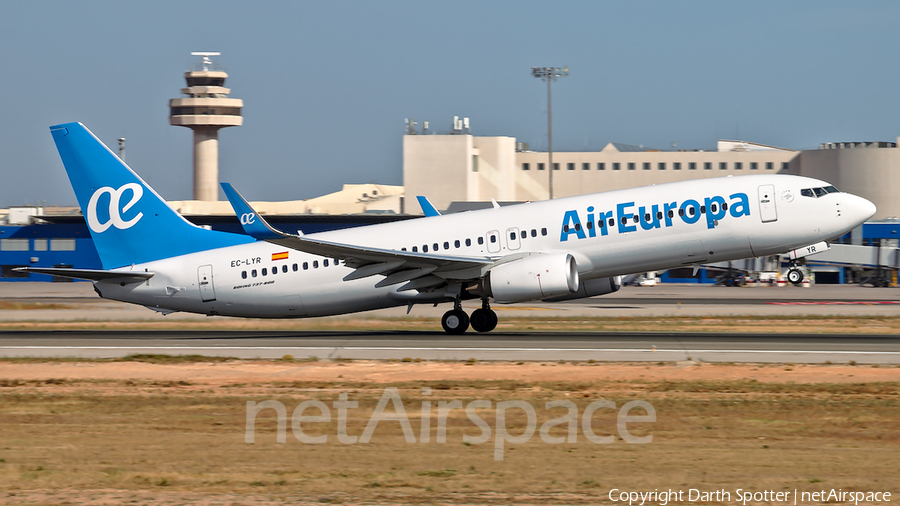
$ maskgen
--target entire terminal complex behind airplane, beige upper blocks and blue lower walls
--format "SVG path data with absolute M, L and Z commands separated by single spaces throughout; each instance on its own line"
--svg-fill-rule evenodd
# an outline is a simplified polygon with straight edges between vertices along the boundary
M 441 210 L 513 203 L 549 196 L 546 152 L 513 137 L 408 131 L 403 136 L 403 186 L 345 185 L 341 192 L 308 201 L 257 203 L 261 214 L 285 230 L 314 232 L 414 218 L 413 197 L 427 196 Z M 820 178 L 876 204 L 872 223 L 838 242 L 875 246 L 877 265 L 896 270 L 900 200 L 900 149 L 896 142 L 824 143 L 797 151 L 740 140 L 720 140 L 716 151 L 659 150 L 612 142 L 600 151 L 553 154 L 554 198 L 689 179 L 785 173 Z M 172 206 L 198 225 L 240 233 L 226 202 L 181 201 Z M 453 205 L 451 205 L 453 204 Z M 882 248 L 884 251 L 882 251 Z M 49 281 L 16 267 L 100 268 L 99 257 L 77 208 L 0 210 L 0 280 Z M 818 267 L 819 282 L 844 282 L 851 267 Z M 691 269 L 686 269 L 690 271 Z M 701 271 L 670 272 L 663 280 L 709 282 Z M 57 279 L 55 281 L 62 281 Z

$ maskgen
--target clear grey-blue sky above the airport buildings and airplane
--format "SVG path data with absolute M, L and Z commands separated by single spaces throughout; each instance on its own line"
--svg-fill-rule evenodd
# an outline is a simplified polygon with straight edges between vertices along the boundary
M 897 2 L 6 2 L 0 206 L 74 205 L 48 126 L 81 121 L 165 198 L 191 196 L 168 124 L 191 51 L 221 51 L 244 126 L 220 180 L 250 200 L 402 184 L 404 118 L 557 151 L 619 141 L 803 149 L 896 140 Z

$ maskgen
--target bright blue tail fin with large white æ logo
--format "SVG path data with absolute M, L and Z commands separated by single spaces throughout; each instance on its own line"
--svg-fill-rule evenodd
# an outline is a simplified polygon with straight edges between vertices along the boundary
M 50 133 L 104 269 L 253 242 L 185 220 L 81 123 Z

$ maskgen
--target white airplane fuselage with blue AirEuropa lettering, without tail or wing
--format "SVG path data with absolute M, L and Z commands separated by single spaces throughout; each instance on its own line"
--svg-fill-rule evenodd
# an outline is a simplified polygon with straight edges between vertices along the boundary
M 309 237 L 498 262 L 565 252 L 581 279 L 592 279 L 784 253 L 842 235 L 874 212 L 846 193 L 801 195 L 828 186 L 788 175 L 712 178 Z M 377 288 L 383 275 L 344 281 L 353 269 L 343 263 L 262 241 L 117 270 L 155 275 L 124 286 L 97 282 L 103 297 L 202 314 L 324 316 L 406 305 L 417 293 L 399 292 L 402 283 Z

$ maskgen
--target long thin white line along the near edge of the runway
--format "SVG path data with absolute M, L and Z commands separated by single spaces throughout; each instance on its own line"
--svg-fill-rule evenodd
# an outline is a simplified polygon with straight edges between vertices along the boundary
M 704 349 L 678 349 L 657 348 L 655 351 L 647 348 L 448 348 L 448 347 L 403 347 L 403 346 L 0 346 L 0 350 L 203 350 L 203 351 L 253 351 L 253 350 L 309 350 L 309 351 L 516 351 L 516 352 L 689 352 L 689 353 L 807 353 L 828 354 L 843 353 L 850 355 L 900 355 L 900 351 L 855 351 L 855 350 L 704 350 Z

